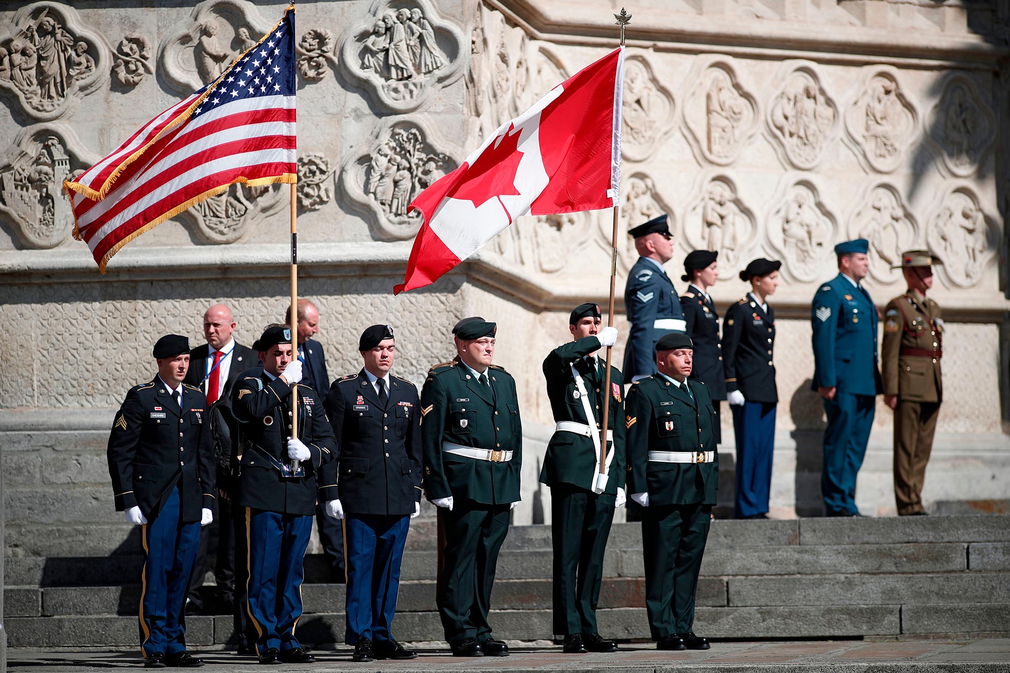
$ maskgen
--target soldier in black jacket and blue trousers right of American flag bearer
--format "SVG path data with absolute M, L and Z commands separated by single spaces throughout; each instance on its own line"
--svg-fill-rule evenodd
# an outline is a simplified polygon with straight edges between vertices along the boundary
M 355 661 L 414 659 L 392 623 L 410 519 L 421 511 L 421 405 L 414 384 L 389 373 L 392 327 L 372 325 L 358 350 L 365 367 L 333 381 L 326 396 L 340 475 L 326 513 L 343 519 L 347 536 L 344 643 Z

